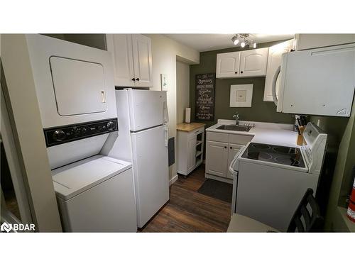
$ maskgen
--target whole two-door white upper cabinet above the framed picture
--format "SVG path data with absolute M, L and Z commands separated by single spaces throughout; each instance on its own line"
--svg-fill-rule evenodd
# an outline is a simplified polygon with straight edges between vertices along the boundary
M 216 77 L 262 77 L 267 62 L 268 48 L 217 54 Z

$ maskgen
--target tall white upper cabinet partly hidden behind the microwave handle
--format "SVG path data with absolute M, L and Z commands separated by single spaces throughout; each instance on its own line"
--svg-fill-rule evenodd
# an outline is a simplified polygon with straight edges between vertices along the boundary
M 275 72 L 281 65 L 281 55 L 293 49 L 293 39 L 271 46 L 268 50 L 268 67 L 266 69 L 264 101 L 273 101 L 272 84 Z M 279 79 L 276 79 L 276 96 L 278 96 Z

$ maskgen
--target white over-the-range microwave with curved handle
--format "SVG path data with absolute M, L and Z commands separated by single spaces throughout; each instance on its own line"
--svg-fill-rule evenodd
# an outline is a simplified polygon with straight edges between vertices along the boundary
M 273 78 L 273 99 L 283 113 L 350 116 L 354 90 L 355 43 L 287 52 Z

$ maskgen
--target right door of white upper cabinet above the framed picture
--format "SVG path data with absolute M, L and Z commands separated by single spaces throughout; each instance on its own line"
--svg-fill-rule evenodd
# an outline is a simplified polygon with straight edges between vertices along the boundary
M 241 51 L 239 77 L 258 77 L 266 75 L 268 48 Z

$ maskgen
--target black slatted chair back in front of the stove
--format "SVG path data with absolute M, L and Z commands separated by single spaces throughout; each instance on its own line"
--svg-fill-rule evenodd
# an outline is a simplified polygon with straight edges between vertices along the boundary
M 307 189 L 288 226 L 288 232 L 321 232 L 323 218 L 320 206 L 313 196 L 313 189 Z

